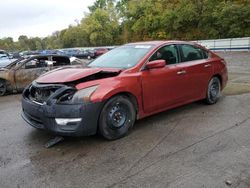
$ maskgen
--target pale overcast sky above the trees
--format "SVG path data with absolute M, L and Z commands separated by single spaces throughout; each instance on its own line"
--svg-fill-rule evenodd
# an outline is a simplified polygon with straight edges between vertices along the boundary
M 0 38 L 46 37 L 81 20 L 94 0 L 2 0 Z

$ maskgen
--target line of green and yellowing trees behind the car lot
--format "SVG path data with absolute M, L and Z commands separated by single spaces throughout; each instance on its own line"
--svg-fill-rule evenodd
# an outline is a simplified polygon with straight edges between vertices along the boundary
M 250 36 L 250 0 L 96 0 L 77 25 L 45 38 L 22 35 L 17 42 L 3 38 L 0 49 L 42 50 L 246 36 Z

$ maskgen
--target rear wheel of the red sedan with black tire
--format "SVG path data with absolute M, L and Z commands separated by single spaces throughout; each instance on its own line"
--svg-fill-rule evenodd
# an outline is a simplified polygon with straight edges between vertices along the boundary
M 218 77 L 213 77 L 207 87 L 207 97 L 206 103 L 207 104 L 215 104 L 221 95 L 221 83 Z

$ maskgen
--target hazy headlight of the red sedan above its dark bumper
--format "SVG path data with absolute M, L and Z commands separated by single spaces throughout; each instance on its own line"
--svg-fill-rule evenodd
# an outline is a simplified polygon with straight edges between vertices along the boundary
M 91 95 L 95 92 L 95 90 L 98 88 L 98 85 L 91 86 L 88 88 L 81 89 L 77 91 L 72 98 L 73 103 L 79 103 L 79 102 L 89 102 Z

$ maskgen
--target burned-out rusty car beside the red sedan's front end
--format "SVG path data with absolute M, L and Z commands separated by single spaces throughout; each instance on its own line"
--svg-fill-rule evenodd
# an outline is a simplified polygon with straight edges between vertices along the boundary
M 20 92 L 41 74 L 61 66 L 77 63 L 61 55 L 35 55 L 16 60 L 0 69 L 0 96 Z

